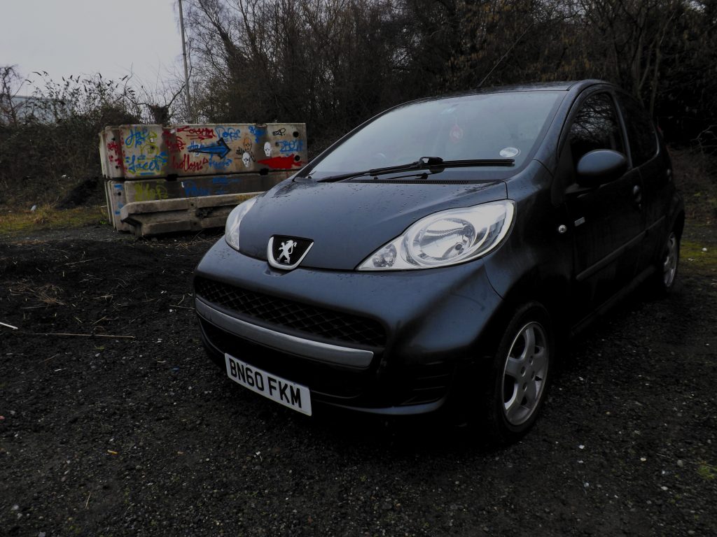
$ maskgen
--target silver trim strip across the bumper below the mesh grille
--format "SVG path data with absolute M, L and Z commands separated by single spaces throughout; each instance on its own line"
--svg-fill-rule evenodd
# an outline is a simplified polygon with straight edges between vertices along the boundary
M 216 324 L 219 328 L 281 352 L 288 352 L 289 354 L 318 360 L 318 362 L 326 362 L 327 364 L 359 369 L 366 369 L 371 365 L 371 360 L 374 359 L 374 353 L 371 351 L 315 342 L 311 339 L 282 334 L 282 332 L 275 332 L 263 326 L 235 319 L 222 311 L 214 309 L 199 297 L 194 299 L 194 307 L 197 314 L 206 319 L 206 321 Z

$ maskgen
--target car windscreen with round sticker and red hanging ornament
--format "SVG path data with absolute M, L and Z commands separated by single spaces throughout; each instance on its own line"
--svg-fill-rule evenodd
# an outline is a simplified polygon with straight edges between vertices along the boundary
M 522 165 L 564 92 L 446 97 L 398 107 L 355 132 L 308 173 L 329 175 L 443 160 L 513 159 Z M 484 170 L 505 170 L 484 167 Z

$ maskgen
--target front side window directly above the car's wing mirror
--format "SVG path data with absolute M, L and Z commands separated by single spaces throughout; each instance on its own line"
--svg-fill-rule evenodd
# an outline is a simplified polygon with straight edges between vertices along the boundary
M 595 149 L 625 153 L 617 111 L 609 94 L 597 93 L 583 102 L 570 127 L 569 144 L 574 165 Z

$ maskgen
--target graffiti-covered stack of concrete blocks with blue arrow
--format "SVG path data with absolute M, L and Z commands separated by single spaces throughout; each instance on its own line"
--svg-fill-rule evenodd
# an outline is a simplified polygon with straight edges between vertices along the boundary
M 100 133 L 108 216 L 138 236 L 223 226 L 307 160 L 303 124 L 120 125 Z

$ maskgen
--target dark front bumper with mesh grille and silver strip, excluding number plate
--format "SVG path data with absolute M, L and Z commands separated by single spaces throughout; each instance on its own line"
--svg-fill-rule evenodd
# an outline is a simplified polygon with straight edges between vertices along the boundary
M 478 357 L 500 297 L 482 261 L 426 271 L 285 272 L 220 239 L 195 271 L 210 357 L 224 353 L 312 399 L 384 414 L 437 410 Z

